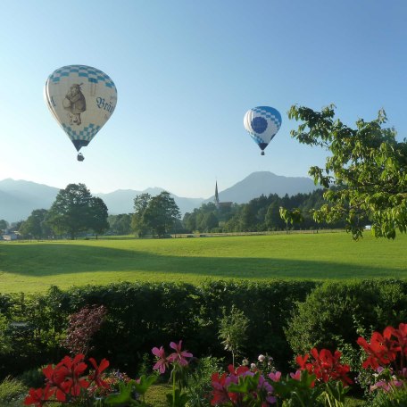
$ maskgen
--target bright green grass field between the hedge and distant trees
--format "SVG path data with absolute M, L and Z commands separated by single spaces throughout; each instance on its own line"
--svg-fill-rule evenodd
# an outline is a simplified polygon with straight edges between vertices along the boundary
M 0 243 L 0 292 L 206 278 L 407 278 L 407 237 L 346 233 Z

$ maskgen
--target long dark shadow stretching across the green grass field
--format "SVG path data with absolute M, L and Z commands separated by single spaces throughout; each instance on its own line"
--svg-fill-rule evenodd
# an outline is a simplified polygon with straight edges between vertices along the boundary
M 127 271 L 202 278 L 407 278 L 407 270 L 371 264 L 245 257 L 183 257 L 80 245 L 2 245 L 0 272 L 32 277 Z

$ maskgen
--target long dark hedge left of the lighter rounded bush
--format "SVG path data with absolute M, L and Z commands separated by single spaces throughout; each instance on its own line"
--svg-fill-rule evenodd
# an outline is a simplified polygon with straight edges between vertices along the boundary
M 51 287 L 46 294 L 15 295 L 7 298 L 4 326 L 10 321 L 26 322 L 7 336 L 12 349 L 4 350 L 0 377 L 58 361 L 63 348 L 69 316 L 86 306 L 104 305 L 105 320 L 92 336 L 89 356 L 108 356 L 113 366 L 137 371 L 143 354 L 151 346 L 184 338 L 197 354 L 227 357 L 218 338 L 221 310 L 233 306 L 249 320 L 248 343 L 254 357 L 261 352 L 273 355 L 284 365 L 292 353 L 284 327 L 295 302 L 303 301 L 316 286 L 311 281 L 208 281 L 201 286 L 176 283 L 120 283 L 108 286 L 72 287 L 62 291 Z

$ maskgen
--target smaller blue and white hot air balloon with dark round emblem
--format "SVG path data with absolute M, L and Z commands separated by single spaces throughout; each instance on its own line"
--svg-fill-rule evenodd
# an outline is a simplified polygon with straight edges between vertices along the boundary
M 243 124 L 264 155 L 264 149 L 281 127 L 281 114 L 273 107 L 253 107 L 245 113 Z

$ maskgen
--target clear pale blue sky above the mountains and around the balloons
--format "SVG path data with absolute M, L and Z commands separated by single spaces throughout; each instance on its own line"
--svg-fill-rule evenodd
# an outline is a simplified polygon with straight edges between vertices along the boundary
M 71 0 L 3 3 L 0 179 L 93 193 L 163 187 L 204 197 L 253 171 L 307 176 L 325 152 L 289 135 L 292 104 L 353 126 L 386 110 L 406 137 L 405 0 Z M 43 87 L 69 64 L 94 66 L 118 104 L 77 162 Z M 270 105 L 283 124 L 264 156 L 243 127 Z

